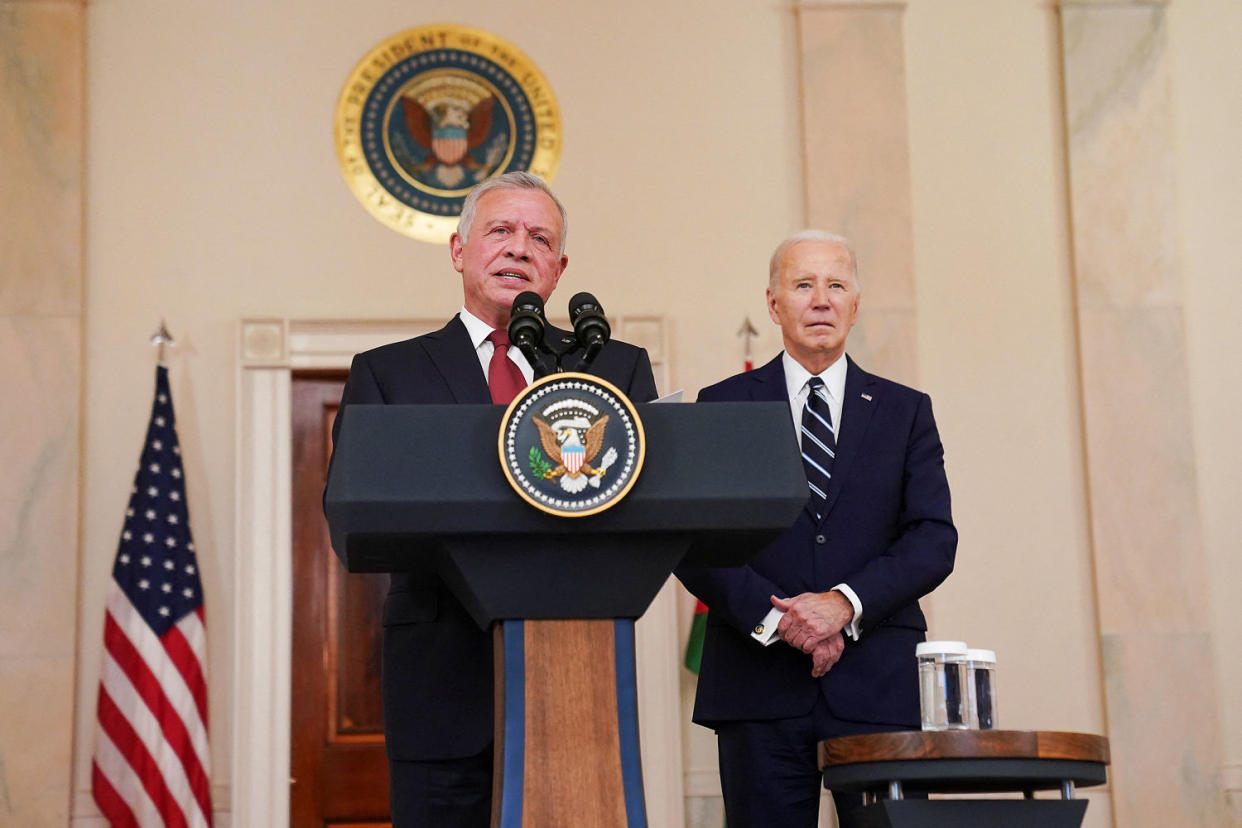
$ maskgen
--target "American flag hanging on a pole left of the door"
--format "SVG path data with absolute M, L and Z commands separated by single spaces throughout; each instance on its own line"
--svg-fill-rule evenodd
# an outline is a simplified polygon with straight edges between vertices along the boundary
M 91 788 L 113 826 L 211 826 L 206 628 L 168 369 L 103 617 Z

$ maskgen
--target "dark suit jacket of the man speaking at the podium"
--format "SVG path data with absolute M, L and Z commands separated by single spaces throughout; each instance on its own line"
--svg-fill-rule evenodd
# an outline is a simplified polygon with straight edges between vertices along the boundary
M 548 336 L 561 348 L 571 341 L 571 334 L 556 329 L 549 329 Z M 585 370 L 636 402 L 656 397 L 647 351 L 633 345 L 609 343 Z M 354 356 L 333 441 L 340 412 L 350 405 L 491 402 L 466 325 L 453 317 L 435 333 Z M 448 591 L 436 562 L 428 556 L 420 561 L 420 569 L 392 574 L 384 601 L 381 685 L 388 752 L 396 760 L 473 756 L 492 741 L 492 633 L 479 629 Z

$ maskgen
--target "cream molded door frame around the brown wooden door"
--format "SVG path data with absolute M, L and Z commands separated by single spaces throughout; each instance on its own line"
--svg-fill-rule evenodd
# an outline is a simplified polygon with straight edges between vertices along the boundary
M 347 369 L 358 351 L 436 330 L 443 320 L 242 319 L 238 325 L 233 569 L 232 823 L 289 824 L 292 654 L 292 400 L 294 370 Z M 668 389 L 667 324 L 617 317 Z M 643 787 L 655 826 L 684 824 L 676 586 L 635 626 Z M 221 792 L 225 793 L 225 792 Z M 220 796 L 220 794 L 217 794 Z M 219 807 L 224 799 L 216 799 Z

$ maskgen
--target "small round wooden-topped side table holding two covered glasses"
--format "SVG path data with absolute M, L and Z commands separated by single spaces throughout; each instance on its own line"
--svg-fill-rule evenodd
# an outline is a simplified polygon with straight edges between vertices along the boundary
M 1108 781 L 1108 740 L 1022 730 L 902 731 L 820 742 L 823 786 L 863 794 L 868 828 L 1077 828 L 1079 787 Z M 1036 799 L 1036 791 L 1061 799 Z M 1021 792 L 1021 799 L 924 799 L 907 794 Z

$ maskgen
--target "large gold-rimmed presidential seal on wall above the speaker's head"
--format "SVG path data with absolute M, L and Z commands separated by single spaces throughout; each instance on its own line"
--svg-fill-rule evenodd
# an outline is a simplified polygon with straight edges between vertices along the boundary
M 335 118 L 349 189 L 392 230 L 443 243 L 479 181 L 528 170 L 551 180 L 560 110 L 515 46 L 481 29 L 421 26 L 349 73 Z

